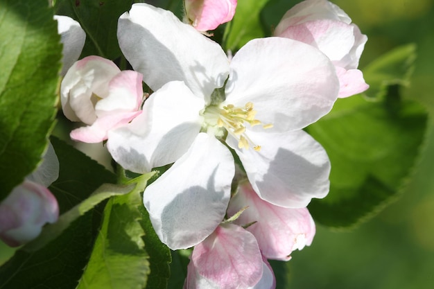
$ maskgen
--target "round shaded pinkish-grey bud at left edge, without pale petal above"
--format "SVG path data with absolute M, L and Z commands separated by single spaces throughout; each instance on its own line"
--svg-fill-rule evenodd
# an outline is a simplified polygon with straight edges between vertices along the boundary
M 36 238 L 46 222 L 56 222 L 58 202 L 44 186 L 24 181 L 0 203 L 0 238 L 16 247 Z

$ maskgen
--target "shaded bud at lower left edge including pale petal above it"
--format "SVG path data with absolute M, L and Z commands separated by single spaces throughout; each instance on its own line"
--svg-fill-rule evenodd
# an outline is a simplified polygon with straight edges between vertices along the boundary
M 0 239 L 16 247 L 36 238 L 46 222 L 56 222 L 58 202 L 46 189 L 58 178 L 59 162 L 51 144 L 42 164 L 0 203 Z

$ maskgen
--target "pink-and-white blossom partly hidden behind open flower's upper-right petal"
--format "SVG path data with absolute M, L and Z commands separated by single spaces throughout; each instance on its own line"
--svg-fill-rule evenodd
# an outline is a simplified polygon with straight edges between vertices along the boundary
M 286 12 L 274 35 L 304 42 L 325 53 L 338 73 L 338 97 L 359 94 L 369 87 L 357 69 L 367 37 L 335 4 L 327 0 L 298 3 Z

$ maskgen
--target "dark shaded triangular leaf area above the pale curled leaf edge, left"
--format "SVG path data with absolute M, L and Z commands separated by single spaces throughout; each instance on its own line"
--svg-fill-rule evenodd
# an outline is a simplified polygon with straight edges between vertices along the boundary
M 58 179 L 49 189 L 58 200 L 60 213 L 80 204 L 101 184 L 116 183 L 114 173 L 106 170 L 83 152 L 56 137 L 51 137 L 51 143 L 59 159 L 60 172 Z

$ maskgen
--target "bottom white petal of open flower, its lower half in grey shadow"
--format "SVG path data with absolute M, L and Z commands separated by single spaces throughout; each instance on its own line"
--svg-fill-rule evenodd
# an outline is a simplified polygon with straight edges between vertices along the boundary
M 171 249 L 207 238 L 225 216 L 234 159 L 215 137 L 200 133 L 184 156 L 144 192 L 155 232 Z

